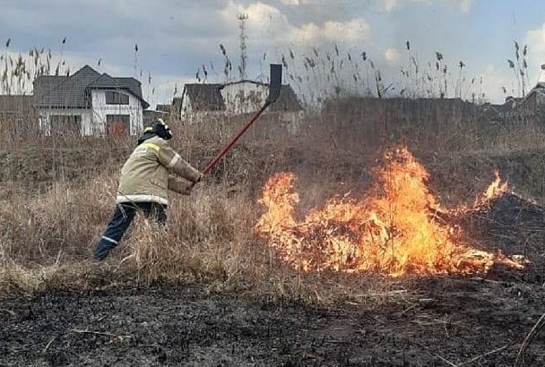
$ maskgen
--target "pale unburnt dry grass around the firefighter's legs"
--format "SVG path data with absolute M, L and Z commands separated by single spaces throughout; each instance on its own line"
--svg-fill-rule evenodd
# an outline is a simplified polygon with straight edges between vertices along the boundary
M 98 177 L 77 188 L 55 186 L 30 205 L 6 201 L 0 253 L 4 295 L 199 282 L 267 301 L 333 303 L 352 296 L 376 300 L 389 287 L 379 279 L 362 286 L 342 276 L 294 272 L 253 234 L 254 201 L 244 192 L 231 199 L 218 185 L 177 198 L 164 228 L 137 218 L 113 256 L 94 263 L 91 252 L 112 209 L 108 192 L 114 188 L 114 180 Z

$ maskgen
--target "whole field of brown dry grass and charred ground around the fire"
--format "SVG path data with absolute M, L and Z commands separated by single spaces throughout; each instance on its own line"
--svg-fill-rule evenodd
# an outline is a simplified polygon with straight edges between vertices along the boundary
M 438 101 L 410 118 L 394 103 L 366 103 L 336 101 L 296 135 L 258 123 L 191 196 L 173 194 L 165 229 L 138 218 L 101 264 L 92 249 L 134 140 L 4 136 L 0 365 L 513 365 L 545 312 L 543 127 L 490 125 Z M 173 146 L 203 167 L 236 122 L 171 124 Z M 384 149 L 400 142 L 446 207 L 474 202 L 497 169 L 514 194 L 437 220 L 528 265 L 440 276 L 304 272 L 255 234 L 271 175 L 297 175 L 302 217 L 334 195 L 368 190 Z M 544 345 L 538 333 L 520 365 L 545 365 Z

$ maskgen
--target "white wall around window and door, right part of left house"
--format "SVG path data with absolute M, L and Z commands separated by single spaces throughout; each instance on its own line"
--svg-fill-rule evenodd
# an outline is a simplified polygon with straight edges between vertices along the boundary
M 138 135 L 143 132 L 143 108 L 138 98 L 122 90 L 115 90 L 129 96 L 128 105 L 107 105 L 107 90 L 91 90 L 92 122 L 86 124 L 85 135 L 106 134 L 106 115 L 129 115 L 131 120 L 130 134 Z M 111 91 L 111 90 L 110 90 Z

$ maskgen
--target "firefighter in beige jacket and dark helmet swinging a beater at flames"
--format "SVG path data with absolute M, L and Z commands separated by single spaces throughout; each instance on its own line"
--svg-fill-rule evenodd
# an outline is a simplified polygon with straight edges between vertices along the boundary
M 96 260 L 104 260 L 117 246 L 136 212 L 165 224 L 168 191 L 186 193 L 186 183 L 169 175 L 169 171 L 193 183 L 201 180 L 199 171 L 169 148 L 170 139 L 169 125 L 161 119 L 144 130 L 138 146 L 121 169 L 116 210 L 97 243 Z

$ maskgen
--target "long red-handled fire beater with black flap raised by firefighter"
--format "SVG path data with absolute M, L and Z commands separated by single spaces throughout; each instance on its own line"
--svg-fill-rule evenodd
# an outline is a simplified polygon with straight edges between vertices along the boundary
M 267 107 L 271 106 L 272 103 L 278 99 L 280 96 L 280 90 L 281 90 L 281 82 L 282 82 L 282 65 L 281 64 L 271 64 L 271 77 L 270 77 L 270 83 L 269 83 L 269 96 L 265 100 L 265 103 L 259 111 L 255 113 L 255 115 L 245 124 L 242 129 L 238 132 L 237 135 L 235 135 L 225 146 L 220 150 L 220 152 L 216 155 L 215 158 L 213 158 L 210 163 L 203 169 L 201 172 L 202 175 L 208 175 L 208 173 L 212 170 L 212 167 L 215 166 L 223 156 L 231 149 L 233 145 L 240 139 L 242 135 L 249 129 L 249 127 L 255 123 L 255 120 L 264 113 L 264 110 L 267 109 Z M 195 186 L 195 183 L 191 183 L 189 186 L 187 186 L 186 193 L 189 194 L 193 187 Z

